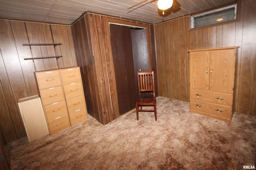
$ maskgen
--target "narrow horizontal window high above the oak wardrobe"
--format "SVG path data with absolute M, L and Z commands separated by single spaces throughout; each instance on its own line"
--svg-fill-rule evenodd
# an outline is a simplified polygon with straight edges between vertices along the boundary
M 191 16 L 191 28 L 236 20 L 236 4 Z

